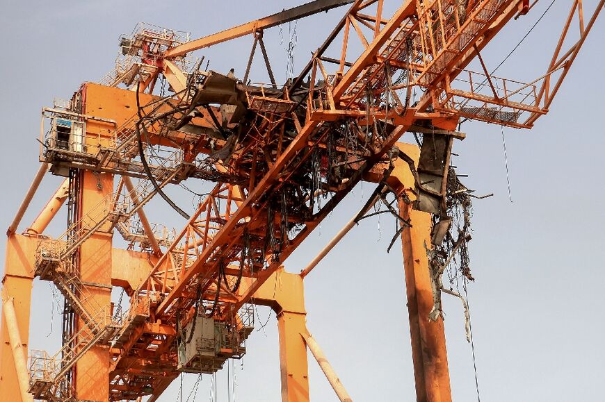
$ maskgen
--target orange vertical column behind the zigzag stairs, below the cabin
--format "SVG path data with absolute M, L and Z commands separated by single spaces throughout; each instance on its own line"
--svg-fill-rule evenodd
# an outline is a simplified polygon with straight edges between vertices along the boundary
M 94 174 L 83 171 L 81 180 L 81 213 L 86 215 L 113 192 L 112 174 Z M 99 217 L 100 218 L 100 217 Z M 111 224 L 105 224 L 80 246 L 80 275 L 86 290 L 102 308 L 111 304 L 111 233 L 104 233 Z M 92 301 L 83 301 L 90 305 Z M 90 308 L 92 311 L 98 307 Z M 78 329 L 86 324 L 80 319 Z M 74 387 L 78 399 L 109 400 L 109 348 L 97 344 L 86 352 L 75 366 Z

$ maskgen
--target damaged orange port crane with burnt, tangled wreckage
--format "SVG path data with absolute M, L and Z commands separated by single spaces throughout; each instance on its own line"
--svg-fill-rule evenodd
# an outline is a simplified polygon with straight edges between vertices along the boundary
M 391 15 L 383 0 L 318 0 L 198 40 L 137 26 L 121 38 L 123 57 L 104 85 L 84 83 L 70 101 L 42 109 L 42 165 L 7 233 L 0 394 L 154 401 L 182 372 L 213 373 L 241 358 L 254 302 L 277 312 L 282 400 L 309 400 L 309 349 L 350 401 L 306 328 L 302 284 L 382 200 L 402 237 L 417 399 L 451 400 L 440 298 L 459 295 L 441 276 L 469 240 L 450 214 L 469 202 L 449 165 L 453 141 L 465 137 L 458 124 L 531 128 L 604 3 L 585 19 L 583 1 L 570 1 L 551 62 L 531 83 L 492 76 L 481 57 L 531 10 L 526 0 L 406 0 Z M 312 60 L 278 85 L 264 29 L 344 4 Z M 186 58 L 243 35 L 254 37 L 243 79 Z M 248 80 L 257 47 L 271 83 Z M 476 58 L 483 71 L 467 70 Z M 168 95 L 157 94 L 163 79 Z M 412 103 L 414 88 L 423 95 Z M 422 135 L 419 146 L 398 142 L 409 132 Z M 18 235 L 47 171 L 65 182 Z M 190 216 L 163 188 L 195 179 L 214 184 Z M 362 180 L 378 183 L 364 208 L 300 274 L 285 272 L 288 256 Z M 183 215 L 183 228 L 150 223 L 144 206 L 156 195 Z M 66 199 L 67 230 L 43 235 Z M 116 231 L 127 249 L 113 247 Z M 65 297 L 63 344 L 28 361 L 35 276 Z M 127 311 L 111 303 L 112 287 L 129 296 Z

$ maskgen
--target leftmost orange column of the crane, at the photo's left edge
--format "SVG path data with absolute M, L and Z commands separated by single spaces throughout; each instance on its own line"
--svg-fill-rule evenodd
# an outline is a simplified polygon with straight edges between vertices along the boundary
M 38 239 L 23 235 L 10 235 L 6 244 L 6 264 L 2 278 L 2 294 L 13 299 L 13 314 L 19 333 L 19 340 L 11 340 L 6 315 L 0 324 L 0 396 L 3 401 L 31 401 L 22 398 L 19 385 L 19 368 L 15 364 L 14 353 L 20 349 L 27 358 L 29 340 L 29 314 L 31 308 L 31 288 L 33 283 L 33 256 Z M 20 345 L 14 342 L 22 342 Z M 19 356 L 17 356 L 19 358 Z M 21 357 L 22 359 L 22 357 Z M 20 370 L 23 370 L 22 367 Z M 27 373 L 25 373 L 27 375 Z M 23 376 L 23 373 L 21 373 Z M 22 383 L 22 381 L 21 381 Z M 29 383 L 29 378 L 28 378 Z M 28 384 L 29 385 L 29 384 Z

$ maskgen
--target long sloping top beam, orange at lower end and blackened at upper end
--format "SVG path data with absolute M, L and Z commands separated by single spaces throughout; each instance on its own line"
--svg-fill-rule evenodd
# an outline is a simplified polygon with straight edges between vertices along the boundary
M 273 15 L 269 15 L 268 17 L 257 19 L 256 21 L 247 22 L 245 24 L 229 28 L 225 31 L 200 37 L 200 39 L 192 40 L 191 42 L 186 42 L 177 47 L 173 47 L 172 49 L 168 49 L 164 54 L 164 57 L 173 58 L 177 56 L 183 56 L 184 54 L 189 53 L 191 51 L 195 51 L 197 49 L 210 47 L 214 44 L 235 39 L 236 37 L 249 35 L 250 33 L 255 33 L 257 31 L 262 31 L 266 28 L 285 24 L 286 22 L 291 22 L 295 19 L 309 17 L 309 15 L 314 15 L 322 11 L 328 11 L 332 8 L 337 8 L 350 3 L 353 3 L 353 0 L 311 1 L 310 3 L 302 4 L 302 6 L 290 8 L 289 10 L 283 10 Z

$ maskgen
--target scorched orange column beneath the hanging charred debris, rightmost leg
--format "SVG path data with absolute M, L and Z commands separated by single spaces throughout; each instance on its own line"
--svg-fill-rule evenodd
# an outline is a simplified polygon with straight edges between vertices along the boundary
M 413 210 L 399 201 L 400 215 L 410 219 L 411 228 L 401 235 L 405 286 L 408 293 L 412 360 L 418 402 L 451 402 L 443 319 L 429 321 L 433 308 L 427 248 L 430 247 L 430 214 Z

